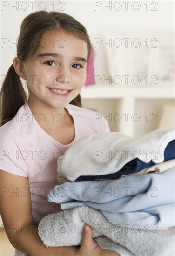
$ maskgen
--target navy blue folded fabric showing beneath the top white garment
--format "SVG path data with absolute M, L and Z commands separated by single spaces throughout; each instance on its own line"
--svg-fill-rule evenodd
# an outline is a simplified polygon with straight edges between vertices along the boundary
M 172 140 L 168 143 L 167 147 L 164 151 L 164 162 L 174 159 L 175 158 L 175 140 Z M 141 170 L 148 168 L 149 166 L 154 165 L 155 163 L 153 161 L 150 161 L 148 163 L 145 163 L 141 161 L 138 158 L 135 158 L 131 161 L 129 161 L 127 164 L 125 164 L 120 171 L 112 174 L 106 174 L 106 175 L 91 175 L 91 176 L 80 176 L 76 179 L 76 181 L 94 181 L 98 179 L 105 179 L 105 178 L 114 178 L 119 177 L 121 175 L 128 175 L 132 173 L 140 172 Z

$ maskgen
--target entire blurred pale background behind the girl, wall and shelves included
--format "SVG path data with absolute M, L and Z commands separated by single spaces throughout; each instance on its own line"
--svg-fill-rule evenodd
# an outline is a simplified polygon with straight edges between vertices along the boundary
M 111 131 L 137 137 L 175 127 L 174 0 L 45 0 L 0 2 L 1 83 L 16 56 L 22 20 L 46 10 L 72 15 L 93 46 L 84 108 L 101 113 Z M 1 223 L 0 255 L 13 255 Z

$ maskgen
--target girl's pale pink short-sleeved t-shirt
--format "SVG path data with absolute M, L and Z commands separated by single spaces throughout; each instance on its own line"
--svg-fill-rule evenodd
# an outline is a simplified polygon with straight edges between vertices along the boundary
M 108 123 L 99 113 L 71 104 L 66 109 L 75 128 L 74 140 L 68 145 L 62 145 L 40 127 L 28 103 L 0 128 L 0 169 L 28 177 L 36 225 L 44 216 L 61 210 L 59 204 L 47 201 L 48 193 L 58 184 L 57 158 L 80 138 L 109 131 Z M 40 114 L 40 118 L 44 121 L 47 117 Z M 18 191 L 23 196 L 28 192 L 25 188 Z M 15 250 L 15 256 L 18 255 L 25 254 Z

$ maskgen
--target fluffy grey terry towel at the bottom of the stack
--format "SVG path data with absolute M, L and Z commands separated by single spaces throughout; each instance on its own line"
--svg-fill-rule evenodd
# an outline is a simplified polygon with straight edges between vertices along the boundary
M 93 228 L 94 237 L 105 236 L 103 239 L 108 237 L 128 249 L 127 253 L 131 252 L 136 256 L 174 256 L 175 254 L 174 228 L 159 231 L 116 226 L 109 223 L 100 211 L 87 206 L 44 217 L 38 227 L 39 235 L 47 246 L 80 245 L 85 223 Z M 70 230 L 74 230 L 74 236 Z M 109 240 L 107 243 L 110 247 Z M 113 249 L 112 244 L 110 249 Z M 117 249 L 116 244 L 115 251 Z M 120 253 L 120 248 L 118 252 Z M 122 253 L 121 255 L 129 254 Z

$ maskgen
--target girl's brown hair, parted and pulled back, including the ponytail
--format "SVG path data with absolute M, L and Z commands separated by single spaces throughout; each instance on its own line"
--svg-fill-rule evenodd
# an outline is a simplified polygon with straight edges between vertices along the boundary
M 17 57 L 20 61 L 25 63 L 29 60 L 39 48 L 43 34 L 54 29 L 84 40 L 87 43 L 89 58 L 90 39 L 86 28 L 79 21 L 66 13 L 38 11 L 29 14 L 20 26 L 17 43 Z M 10 121 L 19 108 L 27 102 L 27 99 L 27 93 L 12 64 L 7 71 L 0 92 L 0 126 Z M 70 104 L 81 107 L 80 94 Z

